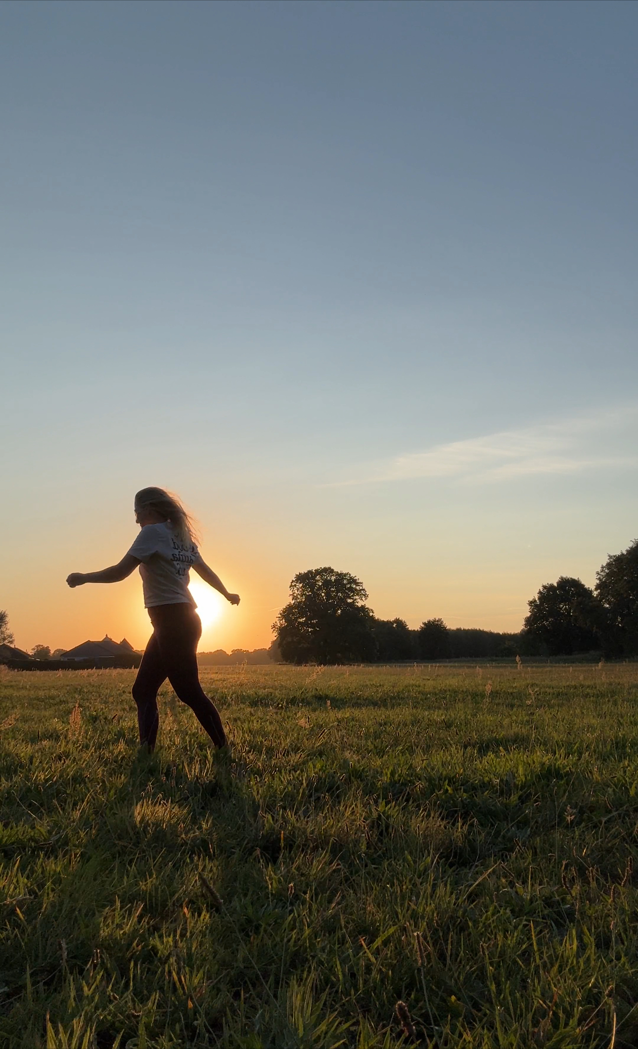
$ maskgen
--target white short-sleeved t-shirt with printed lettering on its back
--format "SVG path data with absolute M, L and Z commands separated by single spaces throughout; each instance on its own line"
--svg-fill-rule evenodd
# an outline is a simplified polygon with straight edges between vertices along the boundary
M 145 608 L 186 602 L 196 607 L 188 580 L 191 565 L 201 561 L 201 555 L 194 542 L 183 542 L 168 521 L 145 524 L 129 554 L 141 562 Z

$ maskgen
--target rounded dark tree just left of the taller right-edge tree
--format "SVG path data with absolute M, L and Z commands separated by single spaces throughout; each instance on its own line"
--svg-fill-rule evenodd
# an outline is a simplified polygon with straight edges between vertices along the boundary
M 548 656 L 571 656 L 600 645 L 602 608 L 580 579 L 560 576 L 528 601 L 525 631 Z

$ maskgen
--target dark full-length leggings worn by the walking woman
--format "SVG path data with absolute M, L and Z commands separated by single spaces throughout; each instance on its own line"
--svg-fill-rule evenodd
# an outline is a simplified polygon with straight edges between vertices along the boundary
M 196 656 L 201 636 L 199 616 L 191 604 L 160 604 L 149 608 L 148 614 L 153 633 L 133 684 L 140 743 L 154 750 L 160 725 L 157 691 L 168 678 L 215 746 L 225 747 L 228 741 L 221 719 L 199 684 Z

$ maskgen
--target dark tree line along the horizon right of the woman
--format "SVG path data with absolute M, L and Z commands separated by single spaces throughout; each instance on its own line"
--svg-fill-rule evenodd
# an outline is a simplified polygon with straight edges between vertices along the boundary
M 378 619 L 360 579 L 329 566 L 298 573 L 291 600 L 273 623 L 271 651 L 285 663 L 394 663 L 406 660 L 573 656 L 599 651 L 638 656 L 638 539 L 611 554 L 592 590 L 560 576 L 528 601 L 518 634 L 450 629 L 428 619 L 410 629 L 403 619 Z

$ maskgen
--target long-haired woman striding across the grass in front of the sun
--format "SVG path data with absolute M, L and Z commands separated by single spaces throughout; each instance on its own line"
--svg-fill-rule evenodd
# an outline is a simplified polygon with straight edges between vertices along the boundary
M 116 583 L 140 565 L 144 604 L 153 624 L 133 684 L 140 745 L 149 753 L 155 748 L 160 724 L 157 691 L 168 678 L 215 747 L 226 747 L 228 741 L 219 713 L 199 684 L 196 652 L 201 623 L 188 588 L 190 569 L 224 594 L 231 604 L 239 604 L 239 595 L 229 594 L 203 560 L 194 541 L 193 522 L 176 496 L 163 488 L 143 488 L 135 496 L 135 520 L 142 531 L 119 564 L 102 572 L 71 572 L 66 581 L 69 586 Z

